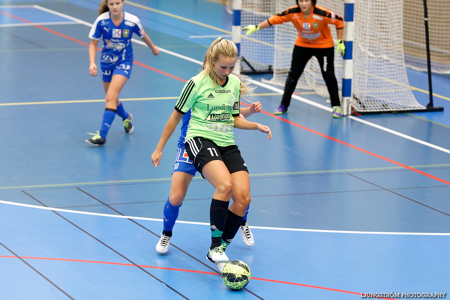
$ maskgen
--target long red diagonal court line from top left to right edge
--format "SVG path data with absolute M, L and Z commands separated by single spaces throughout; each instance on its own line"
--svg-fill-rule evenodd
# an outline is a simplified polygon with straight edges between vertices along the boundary
M 30 21 L 28 21 L 28 20 L 25 20 L 25 19 L 23 19 L 23 18 L 14 16 L 14 15 L 9 14 L 9 13 L 5 13 L 5 12 L 2 12 L 2 11 L 0 11 L 0 13 L 1 13 L 1 14 L 4 14 L 5 16 L 9 16 L 9 17 L 11 17 L 11 18 L 15 18 L 15 19 L 17 19 L 17 20 L 19 20 L 19 21 L 22 21 L 22 22 L 32 23 L 32 22 L 30 22 Z M 45 27 L 40 26 L 40 25 L 33 25 L 33 26 L 38 27 L 38 28 L 40 28 L 40 29 L 43 29 L 43 30 L 45 30 L 45 31 L 49 31 L 49 32 L 51 32 L 51 33 L 53 33 L 53 34 L 56 34 L 56 35 L 58 35 L 58 36 L 64 37 L 64 38 L 66 38 L 66 39 L 68 39 L 68 40 L 72 40 L 72 41 L 74 41 L 74 42 L 76 42 L 76 43 L 79 43 L 79 44 L 81 44 L 81 45 L 89 46 L 89 44 L 87 44 L 87 43 L 85 43 L 85 42 L 82 42 L 81 40 L 76 40 L 76 39 L 74 39 L 74 38 L 72 38 L 72 37 L 70 37 L 70 36 L 66 36 L 66 35 L 64 35 L 64 34 L 62 34 L 62 33 L 57 32 L 57 31 L 54 31 L 54 30 L 45 28 Z M 98 49 L 99 49 L 99 48 L 98 48 Z M 133 61 L 133 63 L 136 63 L 136 64 L 138 64 L 139 66 L 148 68 L 148 69 L 153 70 L 153 71 L 155 71 L 155 72 L 161 73 L 161 74 L 163 74 L 163 75 L 169 76 L 169 77 L 174 78 L 174 79 L 176 79 L 176 80 L 186 82 L 184 79 L 182 79 L 182 78 L 180 78 L 180 77 L 177 77 L 177 76 L 171 75 L 171 74 L 169 74 L 169 73 L 166 73 L 166 72 L 157 70 L 157 69 L 155 69 L 155 68 L 153 68 L 153 67 L 150 67 L 150 66 L 147 66 L 147 65 L 145 65 L 145 64 L 143 64 L 143 63 L 139 63 L 139 62 L 136 62 L 136 61 Z M 247 106 L 248 106 L 248 104 L 245 104 L 245 103 L 241 103 L 241 104 L 244 104 L 244 105 L 247 105 Z M 343 141 L 341 141 L 341 140 L 335 139 L 335 138 L 333 138 L 333 137 L 331 137 L 331 136 L 328 136 L 328 135 L 326 135 L 326 134 L 322 134 L 322 133 L 320 133 L 320 132 L 318 132 L 318 131 L 315 131 L 315 130 L 312 130 L 312 129 L 307 128 L 307 127 L 305 127 L 305 126 L 299 125 L 299 124 L 297 124 L 297 123 L 294 123 L 294 122 L 289 121 L 289 120 L 287 120 L 287 119 L 284 119 L 284 118 L 282 118 L 282 117 L 276 116 L 276 115 L 274 115 L 274 114 L 272 114 L 272 113 L 265 112 L 265 111 L 262 111 L 262 112 L 265 113 L 266 115 L 275 117 L 275 118 L 277 118 L 277 119 L 279 119 L 279 120 L 281 120 L 281 121 L 285 121 L 285 122 L 287 122 L 287 123 L 289 123 L 289 124 L 291 124 L 291 125 L 300 127 L 300 128 L 302 128 L 302 129 L 307 130 L 307 131 L 310 131 L 310 132 L 312 132 L 312 133 L 314 133 L 314 134 L 318 134 L 318 135 L 320 135 L 320 136 L 322 136 L 322 137 L 324 137 L 324 138 L 331 139 L 331 140 L 333 140 L 333 141 L 335 141 L 335 142 L 341 143 L 341 144 L 346 145 L 346 146 L 348 146 L 348 147 L 350 147 L 350 148 L 354 148 L 354 149 L 356 149 L 356 150 L 359 150 L 359 151 L 361 151 L 361 152 L 367 153 L 367 154 L 372 155 L 372 156 L 374 156 L 374 157 L 378 157 L 378 158 L 383 159 L 383 160 L 385 160 L 385 161 L 389 161 L 390 163 L 395 164 L 395 165 L 397 165 L 397 166 L 404 167 L 404 168 L 406 168 L 406 169 L 408 169 L 408 170 L 414 171 L 414 172 L 419 173 L 419 174 L 421 174 L 421 175 L 425 175 L 425 176 L 427 176 L 427 177 L 429 177 L 429 178 L 432 178 L 432 179 L 435 179 L 435 180 L 437 180 L 437 181 L 440 181 L 440 182 L 442 182 L 442 183 L 444 183 L 444 184 L 449 184 L 449 185 L 450 185 L 450 182 L 447 181 L 447 180 L 444 180 L 444 179 L 441 179 L 441 178 L 439 178 L 439 177 L 433 176 L 433 175 L 431 175 L 431 174 L 425 173 L 425 172 L 423 172 L 423 171 L 421 171 L 421 170 L 414 169 L 414 168 L 412 168 L 412 167 L 410 167 L 410 166 L 406 166 L 406 165 L 404 165 L 404 164 L 402 164 L 402 163 L 400 163 L 400 162 L 393 161 L 392 159 L 389 159 L 389 158 L 387 158 L 387 157 L 383 157 L 383 156 L 381 156 L 381 155 L 375 154 L 374 152 L 370 152 L 370 151 L 367 151 L 367 150 L 365 150 L 365 149 L 362 149 L 362 148 L 353 146 L 353 145 L 351 145 L 351 144 L 349 144 L 349 143 L 346 143 L 346 142 L 343 142 Z

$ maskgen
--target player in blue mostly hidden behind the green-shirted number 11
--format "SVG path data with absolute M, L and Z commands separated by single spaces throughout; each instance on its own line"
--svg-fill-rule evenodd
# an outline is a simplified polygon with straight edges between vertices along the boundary
M 166 204 L 164 204 L 163 210 L 163 230 L 156 245 L 156 251 L 162 254 L 169 250 L 172 229 L 175 225 L 176 219 L 178 218 L 180 206 L 183 204 L 184 197 L 186 197 L 186 193 L 188 192 L 188 187 L 193 179 L 193 176 L 197 173 L 192 161 L 188 157 L 186 147 L 184 146 L 184 139 L 186 137 L 186 131 L 188 130 L 191 111 L 192 110 L 189 110 L 189 112 L 184 114 L 181 118 L 181 134 L 178 139 L 178 153 L 172 171 L 170 194 L 167 198 Z M 239 112 L 242 114 L 242 117 L 251 116 L 256 112 L 262 112 L 261 103 L 259 101 L 253 102 L 250 107 L 240 108 Z M 240 226 L 241 238 L 247 246 L 253 246 L 254 239 L 252 231 L 247 223 L 248 209 L 249 207 L 247 207 L 247 211 L 245 212 Z

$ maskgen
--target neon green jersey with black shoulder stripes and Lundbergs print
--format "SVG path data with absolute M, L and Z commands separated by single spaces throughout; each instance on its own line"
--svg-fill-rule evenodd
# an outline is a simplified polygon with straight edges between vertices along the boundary
M 175 105 L 182 114 L 192 107 L 184 141 L 201 136 L 218 146 L 234 145 L 234 117 L 239 116 L 240 92 L 241 81 L 233 74 L 229 74 L 224 86 L 214 83 L 208 74 L 198 74 L 186 82 Z

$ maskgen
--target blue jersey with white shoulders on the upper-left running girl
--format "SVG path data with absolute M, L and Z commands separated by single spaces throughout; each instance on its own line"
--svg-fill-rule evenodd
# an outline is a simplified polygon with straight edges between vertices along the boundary
M 133 61 L 133 48 L 131 47 L 133 32 L 139 37 L 144 36 L 144 28 L 135 15 L 123 12 L 123 20 L 117 27 L 112 22 L 109 11 L 99 15 L 90 29 L 89 38 L 100 40 L 103 36 L 100 62 L 102 68 L 112 69 L 121 61 Z

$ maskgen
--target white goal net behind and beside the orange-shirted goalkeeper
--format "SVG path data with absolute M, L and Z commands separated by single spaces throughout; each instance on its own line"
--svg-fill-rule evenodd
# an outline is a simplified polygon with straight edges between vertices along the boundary
M 414 98 L 406 75 L 403 10 L 404 2 L 408 1 L 413 2 L 355 1 L 351 106 L 356 112 L 426 109 Z M 229 0 L 229 3 L 232 4 L 232 1 Z M 241 24 L 257 24 L 294 4 L 294 0 L 242 0 Z M 344 0 L 318 0 L 317 4 L 344 16 Z M 414 20 L 416 27 L 423 25 L 418 25 L 419 16 Z M 336 30 L 332 28 L 331 31 L 337 45 Z M 250 62 L 261 63 L 263 68 L 271 66 L 274 76 L 269 83 L 284 86 L 296 37 L 297 30 L 291 22 L 256 31 L 251 36 L 243 35 L 241 55 Z M 246 70 L 245 62 L 241 68 Z M 335 72 L 341 89 L 342 58 L 338 54 L 335 54 Z M 306 65 L 297 87 L 315 90 L 321 96 L 329 97 L 319 63 L 314 57 Z

